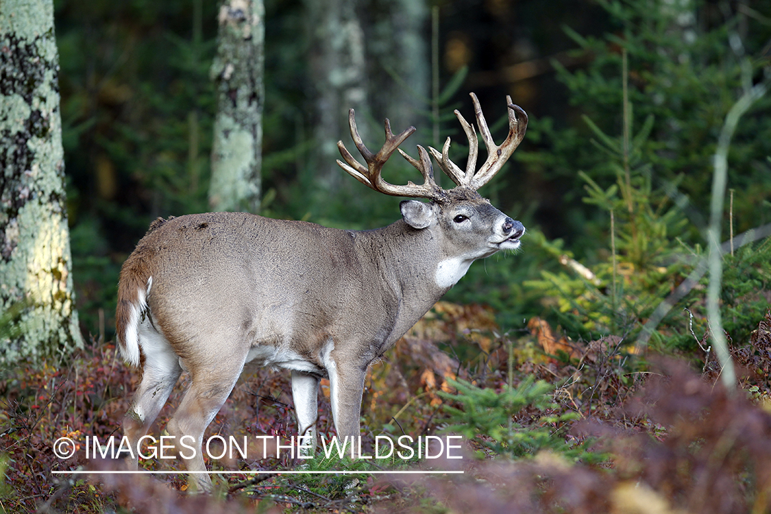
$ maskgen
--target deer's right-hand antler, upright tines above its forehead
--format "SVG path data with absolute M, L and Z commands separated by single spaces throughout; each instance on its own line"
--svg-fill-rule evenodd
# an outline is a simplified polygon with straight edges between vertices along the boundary
M 476 124 L 480 127 L 482 139 L 484 139 L 484 144 L 487 147 L 487 160 L 479 171 L 474 172 L 476 155 L 479 151 L 479 140 L 476 139 L 476 131 L 457 110 L 455 111 L 455 116 L 458 117 L 460 125 L 463 126 L 463 132 L 466 133 L 466 137 L 469 139 L 469 159 L 466 163 L 466 171 L 463 172 L 453 161 L 449 160 L 449 137 L 445 141 L 441 153 L 431 146 L 429 146 L 429 150 L 431 150 L 431 154 L 436 159 L 439 167 L 454 183 L 477 190 L 500 171 L 501 166 L 506 163 L 514 150 L 517 149 L 517 146 L 522 142 L 527 130 L 527 113 L 520 106 L 513 105 L 511 97 L 506 96 L 506 104 L 509 108 L 509 135 L 500 146 L 497 146 L 493 141 L 493 136 L 490 135 L 490 129 L 487 127 L 487 122 L 484 119 L 480 102 L 476 99 L 474 93 L 471 93 L 471 99 L 474 103 Z M 520 115 L 519 119 L 517 119 L 517 114 Z M 413 164 L 413 166 L 415 165 Z

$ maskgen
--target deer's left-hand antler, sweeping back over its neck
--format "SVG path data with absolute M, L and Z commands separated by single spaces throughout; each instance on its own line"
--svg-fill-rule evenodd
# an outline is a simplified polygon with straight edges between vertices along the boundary
M 345 148 L 342 141 L 338 141 L 338 149 L 340 150 L 342 158 L 345 159 L 345 163 L 340 160 L 338 160 L 337 163 L 356 180 L 359 180 L 359 182 L 371 187 L 375 191 L 389 194 L 394 197 L 429 198 L 438 200 L 444 196 L 442 188 L 437 186 L 434 181 L 433 168 L 426 149 L 423 149 L 422 146 L 418 146 L 420 153 L 419 161 L 412 159 L 412 157 L 399 149 L 399 145 L 404 143 L 404 140 L 415 132 L 416 129 L 414 126 L 411 126 L 399 135 L 394 136 L 391 132 L 391 123 L 388 119 L 385 119 L 385 144 L 380 151 L 375 154 L 369 151 L 362 142 L 362 137 L 359 136 L 359 129 L 356 128 L 353 109 L 350 109 L 348 112 L 348 125 L 351 126 L 351 137 L 353 142 L 355 143 L 356 148 L 359 149 L 359 153 L 364 157 L 367 166 L 364 166 L 362 163 L 355 160 L 351 153 L 348 152 L 348 149 Z M 404 156 L 405 159 L 408 160 L 412 166 L 415 166 L 423 175 L 425 181 L 422 185 L 418 186 L 415 183 L 408 181 L 406 186 L 395 186 L 382 179 L 381 171 L 383 164 L 385 164 L 385 161 L 389 159 L 396 149 L 399 149 L 399 153 L 401 153 L 402 156 Z

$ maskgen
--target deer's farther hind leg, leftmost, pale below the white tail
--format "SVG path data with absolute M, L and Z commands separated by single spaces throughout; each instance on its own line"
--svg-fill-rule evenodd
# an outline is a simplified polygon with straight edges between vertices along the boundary
M 131 408 L 123 417 L 123 434 L 132 448 L 130 457 L 126 459 L 130 469 L 137 467 L 140 438 L 153 425 L 182 373 L 177 354 L 162 334 L 149 324 L 140 325 L 139 332 L 145 357 L 144 371 Z

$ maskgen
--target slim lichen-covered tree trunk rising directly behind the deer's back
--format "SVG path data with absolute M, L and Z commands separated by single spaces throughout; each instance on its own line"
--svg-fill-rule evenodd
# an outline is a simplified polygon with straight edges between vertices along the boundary
M 225 0 L 220 8 L 217 119 L 211 150 L 209 204 L 213 210 L 260 210 L 262 106 L 264 103 L 264 5 Z

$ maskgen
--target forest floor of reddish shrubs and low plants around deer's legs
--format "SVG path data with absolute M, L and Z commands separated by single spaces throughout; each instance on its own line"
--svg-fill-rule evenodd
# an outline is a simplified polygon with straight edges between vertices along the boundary
M 230 473 L 214 476 L 213 494 L 195 495 L 184 474 L 110 474 L 122 461 L 93 457 L 94 438 L 120 441 L 140 372 L 112 343 L 92 341 L 66 367 L 22 365 L 0 381 L 0 510 L 769 512 L 771 313 L 749 345 L 732 352 L 742 373 L 729 393 L 712 354 L 698 363 L 635 355 L 622 338 L 571 341 L 537 318 L 527 331 L 502 334 L 489 309 L 440 302 L 372 365 L 362 454 L 372 455 L 385 435 L 433 436 L 431 451 L 442 456 L 306 462 L 251 443 L 246 458 L 208 460 Z M 183 375 L 154 437 L 186 385 Z M 322 381 L 317 426 L 327 441 L 328 394 Z M 296 430 L 291 405 L 288 373 L 244 375 L 205 438 L 288 441 Z M 448 439 L 449 429 L 462 435 Z M 69 459 L 54 452 L 62 437 L 75 445 Z M 451 440 L 460 446 L 448 448 Z M 179 459 L 141 462 L 184 470 Z

